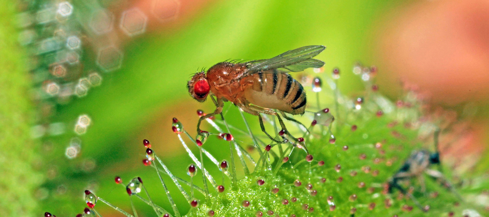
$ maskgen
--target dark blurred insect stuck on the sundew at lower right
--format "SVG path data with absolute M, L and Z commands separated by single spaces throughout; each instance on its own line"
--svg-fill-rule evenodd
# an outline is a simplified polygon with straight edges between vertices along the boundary
M 411 199 L 416 204 L 416 206 L 423 211 L 426 210 L 422 208 L 421 204 L 416 200 L 416 198 L 413 195 L 408 193 L 404 188 L 400 186 L 399 184 L 400 181 L 408 180 L 411 178 L 418 178 L 418 180 L 421 183 L 421 190 L 423 193 L 425 193 L 426 186 L 424 184 L 424 176 L 423 176 L 424 173 L 434 179 L 442 180 L 445 183 L 445 185 L 450 189 L 450 191 L 453 192 L 460 200 L 462 200 L 461 196 L 457 194 L 453 186 L 448 182 L 448 180 L 445 178 L 442 172 L 434 169 L 430 169 L 430 167 L 435 164 L 439 165 L 441 169 L 440 152 L 438 151 L 439 134 L 440 134 L 440 130 L 435 130 L 434 143 L 435 143 L 436 151 L 434 153 L 426 150 L 412 152 L 409 158 L 404 162 L 404 164 L 402 164 L 398 172 L 390 178 L 388 183 L 389 193 L 392 193 L 394 188 L 398 189 L 402 194 L 411 197 Z

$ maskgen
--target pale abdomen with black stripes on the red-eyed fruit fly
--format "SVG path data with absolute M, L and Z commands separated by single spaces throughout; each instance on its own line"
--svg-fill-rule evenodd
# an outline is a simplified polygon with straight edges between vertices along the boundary
M 290 114 L 304 114 L 306 92 L 304 87 L 288 73 L 276 69 L 253 74 L 253 88 L 245 92 L 250 103 L 268 109 L 279 109 Z

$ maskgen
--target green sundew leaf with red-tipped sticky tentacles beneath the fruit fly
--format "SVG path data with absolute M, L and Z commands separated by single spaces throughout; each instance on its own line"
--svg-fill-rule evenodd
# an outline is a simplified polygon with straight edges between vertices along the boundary
M 193 160 L 192 164 L 180 168 L 187 170 L 188 176 L 175 176 L 151 149 L 164 144 L 141 141 L 137 151 L 146 156 L 142 160 L 144 169 L 155 171 L 161 188 L 147 189 L 145 177 L 117 176 L 115 183 L 122 186 L 115 191 L 128 197 L 132 209 L 122 210 L 118 204 L 111 204 L 87 190 L 88 207 L 77 217 L 102 217 L 96 211 L 99 206 L 110 206 L 123 216 L 137 217 L 134 200 L 152 207 L 158 217 L 479 217 L 488 214 L 483 201 L 487 198 L 483 191 L 487 181 L 460 172 L 457 165 L 445 161 L 443 150 L 439 150 L 455 145 L 439 145 L 439 140 L 447 135 L 457 138 L 453 126 L 463 122 L 463 117 L 433 115 L 420 95 L 410 89 L 405 89 L 402 98 L 392 102 L 378 93 L 379 87 L 374 83 L 376 67 L 355 65 L 353 71 L 341 72 L 355 73 L 364 82 L 365 90 L 356 96 L 339 91 L 339 69 L 333 69 L 332 74 L 323 71 L 316 68 L 296 76 L 310 99 L 306 113 L 299 117 L 307 128 L 286 121 L 289 133 L 298 138 L 296 142 L 284 133 L 274 116 L 264 115 L 265 127 L 276 140 L 286 143 L 273 142 L 260 128 L 250 127 L 256 126 L 249 124 L 257 121 L 256 116 L 229 104 L 224 106 L 221 115 L 205 119 L 207 124 L 201 129 L 208 132 L 198 135 L 193 134 L 196 126 L 187 126 L 176 116 L 168 121 L 172 121 L 174 136 Z M 204 111 L 195 109 L 199 116 L 205 115 Z M 226 119 L 227 112 L 232 110 L 238 110 L 242 117 L 240 122 L 233 123 L 241 124 L 231 125 Z M 219 139 L 208 140 L 210 137 Z M 230 154 L 226 159 L 217 159 L 206 151 L 208 146 L 220 146 L 222 152 Z M 432 159 L 438 152 L 441 152 L 439 163 Z M 431 164 L 423 167 L 408 160 L 417 153 L 428 154 Z M 209 172 L 213 167 L 220 172 Z M 415 169 L 419 171 L 405 174 Z M 431 174 L 425 173 L 428 171 Z M 443 175 L 433 178 L 433 171 Z M 393 178 L 401 173 L 407 178 Z M 170 192 L 169 185 L 176 185 L 179 192 Z M 165 202 L 171 209 L 164 209 L 152 200 L 150 195 L 155 194 L 166 195 Z M 182 194 L 188 204 L 175 202 L 176 194 Z M 189 206 L 188 213 L 181 212 L 185 208 L 180 207 Z M 45 213 L 45 217 L 53 215 Z

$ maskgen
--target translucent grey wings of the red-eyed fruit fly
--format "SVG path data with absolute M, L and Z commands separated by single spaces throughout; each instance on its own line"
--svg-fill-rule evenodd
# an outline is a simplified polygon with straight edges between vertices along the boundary
M 324 62 L 311 58 L 321 53 L 325 48 L 323 45 L 304 46 L 289 50 L 271 59 L 250 61 L 246 63 L 248 70 L 246 70 L 244 75 L 276 68 L 287 70 L 282 70 L 283 72 L 298 72 L 311 67 L 319 68 L 324 65 Z

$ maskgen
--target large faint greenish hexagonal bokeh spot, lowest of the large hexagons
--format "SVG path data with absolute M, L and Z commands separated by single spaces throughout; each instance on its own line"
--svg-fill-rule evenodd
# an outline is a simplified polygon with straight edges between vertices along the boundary
M 107 46 L 98 51 L 97 65 L 106 72 L 118 69 L 122 65 L 122 52 L 114 46 Z

